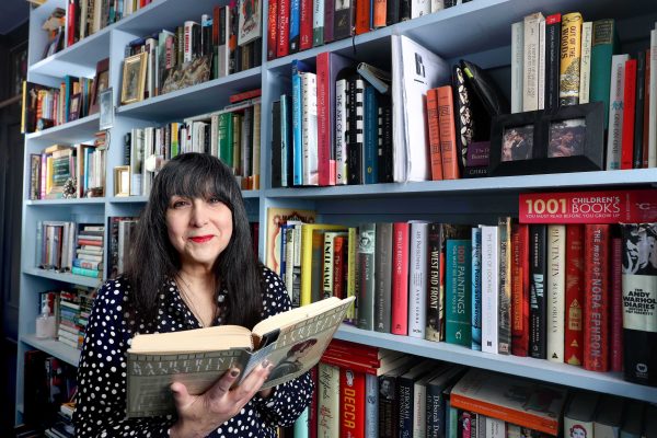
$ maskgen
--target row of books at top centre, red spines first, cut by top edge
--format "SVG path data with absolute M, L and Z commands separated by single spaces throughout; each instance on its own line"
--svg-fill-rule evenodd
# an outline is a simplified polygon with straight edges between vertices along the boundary
M 365 34 L 468 1 L 272 1 L 267 18 L 267 59 Z

